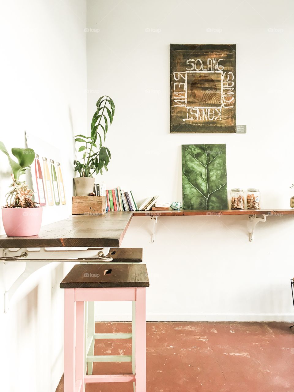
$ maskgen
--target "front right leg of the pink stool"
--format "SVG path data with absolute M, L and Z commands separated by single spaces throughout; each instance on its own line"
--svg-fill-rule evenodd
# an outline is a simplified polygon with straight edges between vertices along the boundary
M 146 300 L 145 287 L 136 289 L 136 392 L 146 392 Z

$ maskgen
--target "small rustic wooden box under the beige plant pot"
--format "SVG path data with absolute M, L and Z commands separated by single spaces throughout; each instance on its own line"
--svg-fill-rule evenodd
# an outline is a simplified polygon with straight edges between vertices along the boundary
M 73 196 L 72 214 L 105 214 L 105 196 Z

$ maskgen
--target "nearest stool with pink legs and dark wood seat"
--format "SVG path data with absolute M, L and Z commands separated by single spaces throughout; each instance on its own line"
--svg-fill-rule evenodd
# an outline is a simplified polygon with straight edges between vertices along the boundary
M 64 290 L 64 392 L 81 392 L 85 383 L 129 381 L 146 391 L 145 264 L 75 265 L 60 283 Z M 131 338 L 132 356 L 94 356 L 91 362 L 132 361 L 132 374 L 85 375 L 85 302 L 132 301 L 132 334 L 95 334 L 96 338 Z M 98 336 L 96 336 L 98 335 Z M 100 336 L 99 336 L 100 335 Z M 102 336 L 103 335 L 103 336 Z M 114 335 L 114 336 L 111 336 Z

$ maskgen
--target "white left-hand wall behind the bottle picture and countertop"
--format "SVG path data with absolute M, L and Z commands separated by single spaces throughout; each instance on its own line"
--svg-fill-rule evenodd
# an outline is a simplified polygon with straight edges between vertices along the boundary
M 86 3 L 2 2 L 0 140 L 24 147 L 24 131 L 59 145 L 65 154 L 67 204 L 44 209 L 43 224 L 71 213 L 73 134 L 86 125 Z M 1 204 L 9 167 L 1 153 Z M 3 233 L 1 230 L 1 234 Z M 0 263 L 1 390 L 53 392 L 63 373 L 63 291 L 71 266 L 54 263 L 29 276 L 4 314 L 4 291 L 23 263 Z

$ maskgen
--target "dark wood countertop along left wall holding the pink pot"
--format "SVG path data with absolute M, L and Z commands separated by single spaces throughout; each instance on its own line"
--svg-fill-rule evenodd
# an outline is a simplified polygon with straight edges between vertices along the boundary
M 133 212 L 73 215 L 41 227 L 38 236 L 0 236 L 1 248 L 120 247 Z

